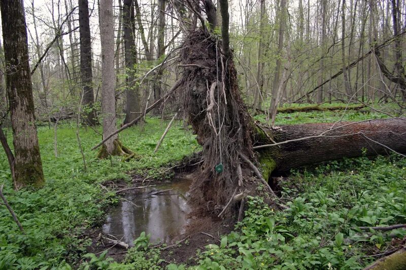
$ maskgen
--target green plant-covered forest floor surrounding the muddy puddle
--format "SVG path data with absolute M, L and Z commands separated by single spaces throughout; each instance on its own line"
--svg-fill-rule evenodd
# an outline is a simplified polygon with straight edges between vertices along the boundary
M 369 109 L 279 113 L 276 123 L 373 118 L 385 115 Z M 264 121 L 265 117 L 257 115 L 256 119 Z M 175 240 L 175 244 L 184 240 L 180 244 L 154 247 L 148 236 L 140 235 L 133 248 L 126 253 L 117 249 L 122 254 L 111 257 L 103 252 L 108 246 L 95 240 L 108 211 L 121 201 L 114 188 L 140 185 L 134 183 L 135 176 L 148 177 L 148 184 L 170 181 L 173 167 L 200 150 L 188 127 L 177 122 L 154 153 L 166 125 L 167 121 L 148 119 L 144 127 L 120 133 L 123 144 L 141 156 L 129 162 L 118 157 L 97 160 L 90 148 L 100 140 L 100 128 L 97 132 L 80 128 L 86 169 L 75 123 L 58 126 L 57 157 L 53 129 L 39 127 L 46 177 L 40 190 L 14 191 L 2 153 L 0 184 L 5 184 L 4 193 L 26 234 L 20 233 L 7 209 L 0 206 L 0 269 L 185 269 L 193 265 L 196 269 L 360 269 L 401 245 L 406 236 L 404 229 L 358 228 L 406 223 L 406 160 L 395 155 L 361 157 L 275 176 L 274 186 L 288 202 L 284 211 L 252 197 L 242 222 L 206 217 L 190 228 L 187 238 Z M 8 135 L 12 145 L 10 130 Z

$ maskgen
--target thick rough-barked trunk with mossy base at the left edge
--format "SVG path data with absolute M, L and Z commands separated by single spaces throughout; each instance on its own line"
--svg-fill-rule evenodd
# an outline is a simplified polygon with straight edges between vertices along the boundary
M 15 152 L 14 187 L 41 187 L 45 179 L 35 126 L 24 7 L 22 1 L 1 0 L 0 8 Z

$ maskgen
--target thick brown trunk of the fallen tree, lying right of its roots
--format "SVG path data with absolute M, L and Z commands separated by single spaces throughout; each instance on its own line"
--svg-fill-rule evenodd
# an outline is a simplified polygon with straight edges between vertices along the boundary
M 263 145 L 269 140 L 263 132 L 276 144 Z M 392 151 L 406 153 L 406 118 L 276 128 L 262 126 L 257 129 L 255 136 L 258 135 L 261 136 L 255 138 L 254 149 L 269 172 L 288 171 L 344 157 L 386 155 Z

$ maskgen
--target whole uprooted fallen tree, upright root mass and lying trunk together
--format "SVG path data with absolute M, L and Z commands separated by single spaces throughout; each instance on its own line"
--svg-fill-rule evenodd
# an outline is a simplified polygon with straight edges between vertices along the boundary
M 220 1 L 220 5 L 222 40 L 211 33 L 216 27 L 213 23 L 211 29 L 202 26 L 189 33 L 180 57 L 184 67 L 179 87 L 183 107 L 202 145 L 203 161 L 192 188 L 195 201 L 210 212 L 224 209 L 224 205 L 231 213 L 232 209 L 237 210 L 229 206 L 230 198 L 246 189 L 251 194 L 257 192 L 248 183 L 251 171 L 256 171 L 253 164 L 262 170 L 257 183 L 263 184 L 263 179 L 268 180 L 274 171 L 392 150 L 406 152 L 405 119 L 279 128 L 254 123 L 240 96 L 229 49 L 227 1 Z M 191 10 L 197 8 L 198 5 L 190 6 Z M 206 14 L 213 12 L 206 10 Z M 196 12 L 196 16 L 200 15 Z M 272 189 L 269 194 L 278 200 Z

